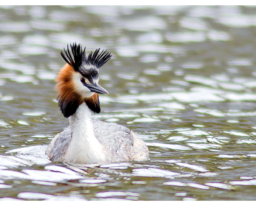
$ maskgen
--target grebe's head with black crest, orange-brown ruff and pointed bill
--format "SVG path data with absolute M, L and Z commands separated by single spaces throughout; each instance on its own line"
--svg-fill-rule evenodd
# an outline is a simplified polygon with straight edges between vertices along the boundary
M 104 66 L 112 57 L 107 50 L 96 49 L 86 56 L 85 48 L 73 43 L 67 50 L 60 52 L 67 62 L 59 71 L 56 78 L 58 104 L 64 117 L 76 112 L 80 104 L 85 102 L 95 113 L 100 113 L 98 94 L 108 94 L 107 90 L 99 85 L 99 68 Z

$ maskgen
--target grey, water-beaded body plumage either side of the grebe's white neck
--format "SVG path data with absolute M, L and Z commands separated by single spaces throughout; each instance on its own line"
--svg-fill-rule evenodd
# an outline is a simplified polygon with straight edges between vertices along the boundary
M 148 147 L 125 126 L 92 120 L 96 139 L 104 146 L 107 162 L 149 159 Z M 72 139 L 70 126 L 57 134 L 46 149 L 46 154 L 54 162 L 63 162 Z

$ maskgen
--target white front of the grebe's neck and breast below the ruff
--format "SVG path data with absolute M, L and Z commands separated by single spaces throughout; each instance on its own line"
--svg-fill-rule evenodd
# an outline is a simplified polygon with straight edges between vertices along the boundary
M 65 160 L 71 163 L 89 164 L 106 162 L 102 144 L 96 139 L 91 121 L 92 111 L 82 103 L 75 114 L 68 118 L 71 142 Z

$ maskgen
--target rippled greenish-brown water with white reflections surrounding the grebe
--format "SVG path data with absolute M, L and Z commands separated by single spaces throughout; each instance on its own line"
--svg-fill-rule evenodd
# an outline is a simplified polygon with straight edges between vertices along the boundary
M 256 200 L 254 6 L 2 6 L 1 200 Z M 113 54 L 95 119 L 150 160 L 51 163 L 68 125 L 54 78 L 67 43 Z

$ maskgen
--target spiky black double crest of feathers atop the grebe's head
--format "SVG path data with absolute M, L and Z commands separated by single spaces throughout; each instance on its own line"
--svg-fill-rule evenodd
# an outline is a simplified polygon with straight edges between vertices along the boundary
M 90 54 L 86 56 L 85 48 L 82 50 L 81 44 L 76 43 L 73 43 L 73 45 L 70 44 L 70 49 L 67 45 L 67 50 L 65 50 L 65 48 L 63 50 L 64 53 L 60 51 L 60 55 L 75 71 L 79 71 L 83 64 L 92 65 L 99 69 L 112 57 L 111 53 L 107 52 L 107 50 L 100 52 L 100 48 L 96 49 L 94 52 L 91 51 Z

